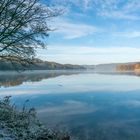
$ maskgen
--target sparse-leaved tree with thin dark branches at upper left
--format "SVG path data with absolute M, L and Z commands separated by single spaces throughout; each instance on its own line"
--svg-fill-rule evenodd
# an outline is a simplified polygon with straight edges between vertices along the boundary
M 0 59 L 27 65 L 44 48 L 48 21 L 58 10 L 39 0 L 0 0 Z

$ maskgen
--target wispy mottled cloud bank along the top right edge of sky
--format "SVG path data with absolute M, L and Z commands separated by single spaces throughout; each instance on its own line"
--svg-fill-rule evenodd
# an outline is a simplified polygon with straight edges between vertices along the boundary
M 92 10 L 104 18 L 139 20 L 140 9 L 138 0 L 55 0 L 55 2 L 71 8 L 72 5 L 85 10 Z

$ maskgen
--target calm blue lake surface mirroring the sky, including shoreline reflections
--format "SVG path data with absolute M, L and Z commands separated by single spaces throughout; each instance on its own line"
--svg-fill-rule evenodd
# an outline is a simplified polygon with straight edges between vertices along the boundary
M 0 97 L 35 107 L 72 140 L 139 140 L 140 77 L 83 71 L 0 72 Z

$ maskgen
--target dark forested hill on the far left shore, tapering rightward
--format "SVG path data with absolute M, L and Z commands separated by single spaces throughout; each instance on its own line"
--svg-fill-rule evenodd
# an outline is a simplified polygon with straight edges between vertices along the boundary
M 34 64 L 31 64 L 28 67 L 23 67 L 22 65 L 14 62 L 7 62 L 0 60 L 0 70 L 71 70 L 71 69 L 86 69 L 84 66 L 80 65 L 71 65 L 71 64 L 59 64 L 55 62 L 48 62 L 36 59 Z

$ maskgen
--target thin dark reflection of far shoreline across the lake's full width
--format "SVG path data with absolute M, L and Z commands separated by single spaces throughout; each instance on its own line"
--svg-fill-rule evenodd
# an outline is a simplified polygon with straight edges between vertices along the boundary
M 103 75 L 131 75 L 140 76 L 140 72 L 95 72 L 95 71 L 26 71 L 26 72 L 0 72 L 0 87 L 11 87 L 22 85 L 24 82 L 39 82 L 43 79 L 55 78 L 62 75 L 73 75 L 80 73 L 96 73 Z

